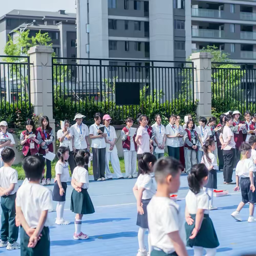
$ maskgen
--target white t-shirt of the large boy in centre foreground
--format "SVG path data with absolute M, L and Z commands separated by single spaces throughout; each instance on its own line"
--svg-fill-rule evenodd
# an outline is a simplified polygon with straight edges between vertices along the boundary
M 157 196 L 153 196 L 147 206 L 151 245 L 166 254 L 175 251 L 168 234 L 179 231 L 183 243 L 186 244 L 184 217 L 179 208 L 172 199 Z

